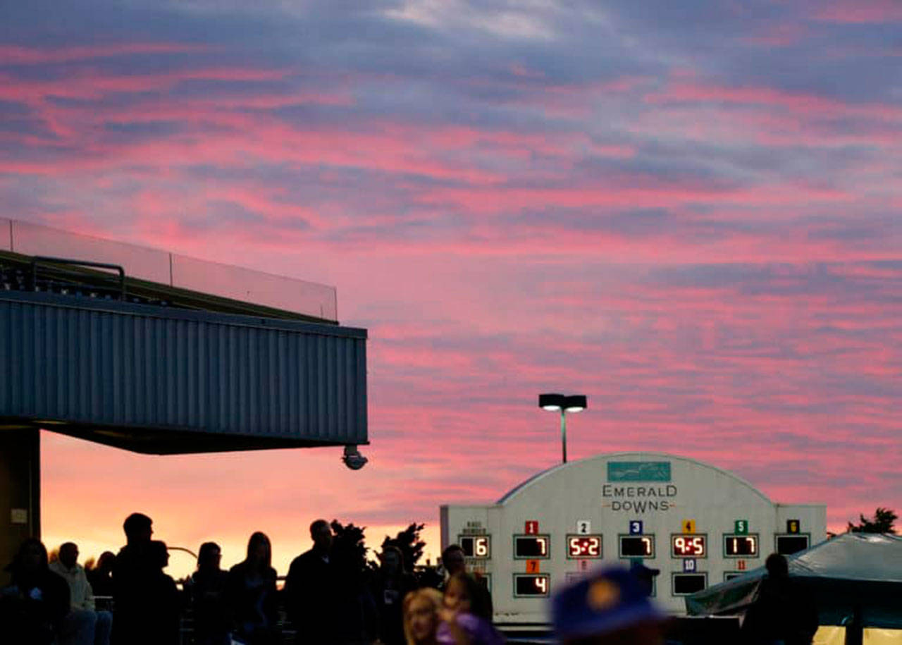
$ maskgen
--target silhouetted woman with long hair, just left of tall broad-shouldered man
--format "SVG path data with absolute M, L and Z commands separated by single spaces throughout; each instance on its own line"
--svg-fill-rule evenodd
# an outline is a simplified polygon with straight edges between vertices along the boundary
M 271 562 L 270 539 L 258 531 L 248 540 L 247 557 L 229 569 L 226 579 L 226 602 L 235 635 L 248 645 L 279 641 L 276 570 Z

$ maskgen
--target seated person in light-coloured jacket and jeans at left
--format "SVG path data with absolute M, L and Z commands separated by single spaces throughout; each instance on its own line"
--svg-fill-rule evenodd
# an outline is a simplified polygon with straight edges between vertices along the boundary
M 62 623 L 60 645 L 109 645 L 113 614 L 96 611 L 94 592 L 78 564 L 78 545 L 60 545 L 60 558 L 50 568 L 69 584 L 69 613 Z

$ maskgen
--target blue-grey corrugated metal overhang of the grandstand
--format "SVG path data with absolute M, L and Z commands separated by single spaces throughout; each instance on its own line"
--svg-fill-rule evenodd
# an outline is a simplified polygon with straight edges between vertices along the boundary
M 152 454 L 366 444 L 366 330 L 0 292 L 0 427 Z

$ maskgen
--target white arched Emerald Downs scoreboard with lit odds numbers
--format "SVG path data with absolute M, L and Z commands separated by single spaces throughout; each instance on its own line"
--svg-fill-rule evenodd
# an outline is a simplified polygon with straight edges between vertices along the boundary
M 612 562 L 659 569 L 655 602 L 685 613 L 684 596 L 825 539 L 826 507 L 771 502 L 686 457 L 617 453 L 557 465 L 495 503 L 444 505 L 441 535 L 486 578 L 496 622 L 548 622 L 543 599 Z

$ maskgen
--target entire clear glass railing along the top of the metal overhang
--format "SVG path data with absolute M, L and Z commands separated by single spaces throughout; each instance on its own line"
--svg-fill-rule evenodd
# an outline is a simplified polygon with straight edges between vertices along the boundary
M 131 278 L 336 322 L 335 287 L 157 249 L 0 219 L 0 250 L 118 264 Z

